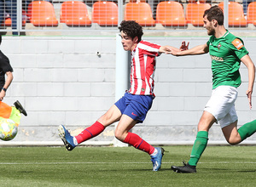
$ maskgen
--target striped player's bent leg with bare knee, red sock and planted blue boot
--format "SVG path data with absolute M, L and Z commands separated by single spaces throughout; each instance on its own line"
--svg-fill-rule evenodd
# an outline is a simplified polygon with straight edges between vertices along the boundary
M 154 148 L 151 144 L 148 144 L 144 139 L 139 137 L 136 133 L 131 133 L 132 127 L 137 124 L 137 121 L 132 119 L 130 116 L 122 115 L 118 126 L 115 129 L 115 137 L 120 141 L 131 144 L 137 150 L 143 150 L 151 156 L 151 161 L 153 162 L 153 171 L 158 171 L 161 166 L 162 156 L 164 155 L 164 150 L 162 148 Z

